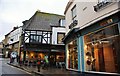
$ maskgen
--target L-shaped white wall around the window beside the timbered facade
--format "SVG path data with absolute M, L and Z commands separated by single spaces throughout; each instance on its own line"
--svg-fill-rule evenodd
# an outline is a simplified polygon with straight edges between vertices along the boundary
M 52 27 L 52 44 L 57 44 L 57 33 L 65 33 L 65 31 L 63 27 Z

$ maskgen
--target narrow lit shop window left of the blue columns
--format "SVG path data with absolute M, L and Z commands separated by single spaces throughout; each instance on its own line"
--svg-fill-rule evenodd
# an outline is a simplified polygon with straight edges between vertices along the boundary
M 68 44 L 68 68 L 78 69 L 77 40 L 71 41 Z

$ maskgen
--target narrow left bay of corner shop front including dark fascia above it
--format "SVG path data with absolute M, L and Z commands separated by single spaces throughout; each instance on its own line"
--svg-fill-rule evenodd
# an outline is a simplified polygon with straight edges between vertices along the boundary
M 71 29 L 67 36 L 63 39 L 66 45 L 66 69 L 68 70 L 80 70 L 80 57 L 79 57 L 79 48 L 78 48 L 78 37 L 75 32 L 78 31 L 78 28 Z

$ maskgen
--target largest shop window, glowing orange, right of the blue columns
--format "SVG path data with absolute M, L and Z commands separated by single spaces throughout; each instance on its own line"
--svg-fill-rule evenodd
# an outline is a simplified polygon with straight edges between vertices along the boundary
M 84 36 L 86 71 L 118 72 L 120 35 L 118 24 Z

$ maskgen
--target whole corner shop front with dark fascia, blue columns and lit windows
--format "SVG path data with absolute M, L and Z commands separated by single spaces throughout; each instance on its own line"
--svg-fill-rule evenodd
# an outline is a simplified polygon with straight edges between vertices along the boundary
M 84 29 L 74 30 L 64 38 L 66 69 L 89 73 L 120 73 L 119 13 Z

